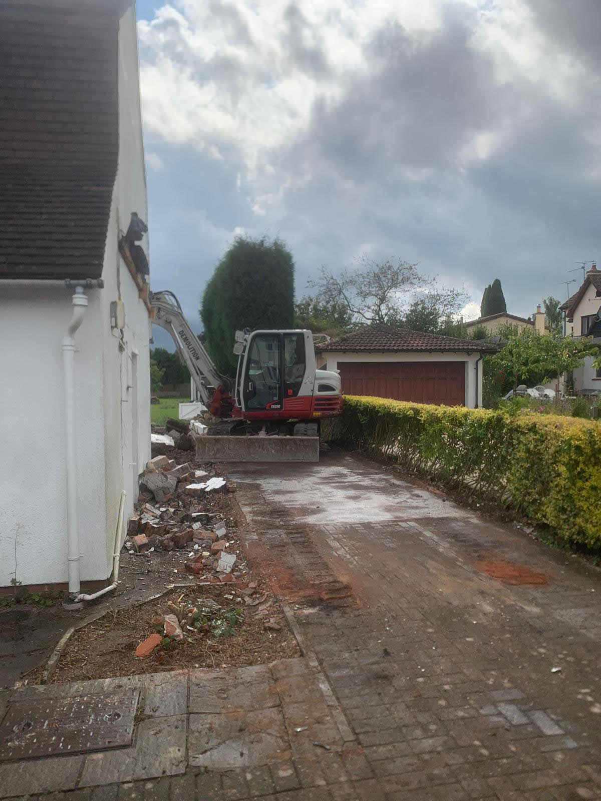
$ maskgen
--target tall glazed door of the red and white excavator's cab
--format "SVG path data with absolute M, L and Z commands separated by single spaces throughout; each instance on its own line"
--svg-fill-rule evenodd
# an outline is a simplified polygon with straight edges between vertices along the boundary
M 247 409 L 265 409 L 281 401 L 281 338 L 279 334 L 253 336 L 244 376 Z

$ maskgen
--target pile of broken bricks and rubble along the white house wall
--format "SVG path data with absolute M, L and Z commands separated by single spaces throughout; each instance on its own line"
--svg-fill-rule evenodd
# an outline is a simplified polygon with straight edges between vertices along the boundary
M 209 496 L 235 492 L 236 486 L 195 469 L 176 465 L 165 455 L 147 462 L 140 479 L 139 500 L 127 526 L 125 547 L 130 553 L 187 550 L 183 572 L 204 582 L 235 582 L 248 572 L 223 514 L 212 510 Z

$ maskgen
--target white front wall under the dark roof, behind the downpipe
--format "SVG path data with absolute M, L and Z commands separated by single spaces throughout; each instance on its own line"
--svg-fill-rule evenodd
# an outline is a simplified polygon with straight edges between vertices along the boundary
M 82 578 L 107 575 L 102 350 L 103 290 L 90 290 L 76 335 L 75 424 Z M 67 580 L 67 473 L 61 340 L 73 290 L 2 282 L 0 586 Z M 15 568 L 16 566 L 16 568 Z

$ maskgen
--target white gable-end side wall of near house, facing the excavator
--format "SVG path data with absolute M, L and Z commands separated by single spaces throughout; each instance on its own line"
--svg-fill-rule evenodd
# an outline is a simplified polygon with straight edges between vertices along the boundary
M 103 277 L 105 480 L 107 519 L 105 542 L 110 564 L 119 498 L 126 497 L 126 519 L 138 496 L 134 476 L 141 473 L 150 453 L 150 345 L 148 312 L 117 247 L 119 232 L 127 231 L 131 212 L 147 222 L 146 175 L 138 89 L 138 50 L 135 13 L 127 9 L 119 26 L 119 170 L 113 191 Z M 143 241 L 147 246 L 147 237 Z M 123 338 L 109 326 L 111 301 L 125 307 Z M 133 361 L 137 363 L 134 388 Z M 137 395 L 137 410 L 134 398 Z M 137 421 L 137 431 L 134 425 Z M 134 463 L 137 437 L 138 459 Z

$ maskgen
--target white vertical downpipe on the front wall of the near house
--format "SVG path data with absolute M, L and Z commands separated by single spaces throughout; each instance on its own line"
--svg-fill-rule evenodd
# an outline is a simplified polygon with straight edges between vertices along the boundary
M 77 522 L 77 458 L 75 447 L 75 332 L 86 313 L 87 296 L 82 287 L 75 287 L 72 298 L 73 316 L 63 337 L 63 369 L 65 376 L 65 429 L 67 445 L 67 559 L 69 596 L 79 594 L 79 528 Z

